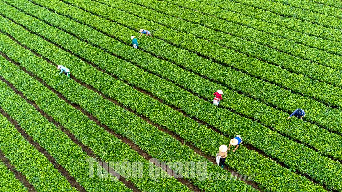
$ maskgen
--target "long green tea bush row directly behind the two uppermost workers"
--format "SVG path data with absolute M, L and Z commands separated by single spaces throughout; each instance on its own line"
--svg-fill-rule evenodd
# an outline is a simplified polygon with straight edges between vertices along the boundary
M 41 1 L 35 0 L 35 2 L 43 3 L 45 6 L 51 6 L 50 3 L 52 3 L 52 2 L 46 2 L 44 0 L 41 0 Z M 56 0 L 54 4 L 56 4 L 57 2 L 58 0 Z M 114 11 L 113 8 L 109 8 L 108 6 L 102 5 L 101 3 L 98 3 L 98 2 L 93 2 L 90 0 L 86 2 L 83 2 L 83 1 L 81 2 L 78 0 L 66 0 L 65 2 L 68 2 L 74 6 L 77 6 L 78 8 L 90 11 L 94 13 L 95 15 L 110 19 L 111 21 L 119 22 L 121 25 L 126 26 L 126 27 L 128 26 L 133 29 L 139 29 L 141 27 L 143 28 L 153 27 L 153 29 L 155 30 L 153 34 L 155 36 L 158 36 L 159 34 L 160 38 L 171 43 L 171 45 L 155 38 L 151 38 L 149 40 L 149 43 L 156 41 L 155 43 L 159 44 L 159 46 L 161 46 L 163 49 L 172 50 L 173 48 L 173 51 L 168 53 L 169 54 L 168 59 L 172 59 L 172 58 L 169 58 L 171 55 L 176 55 L 177 53 L 180 52 L 179 50 L 175 50 L 174 49 L 175 47 L 173 46 L 183 47 L 184 49 L 192 50 L 196 52 L 197 54 L 204 55 L 204 56 L 207 56 L 208 58 L 212 58 L 213 60 L 217 62 L 221 62 L 224 66 L 233 67 L 235 69 L 241 70 L 244 73 L 247 73 L 253 77 L 258 77 L 261 80 L 272 82 L 278 86 L 289 89 L 295 93 L 298 93 L 298 94 L 301 94 L 303 96 L 307 96 L 310 98 L 314 98 L 315 100 L 318 100 L 320 102 L 324 102 L 327 105 L 330 105 L 330 106 L 342 105 L 342 89 L 341 88 L 337 88 L 332 85 L 328 85 L 325 83 L 318 82 L 316 80 L 312 80 L 310 78 L 306 78 L 301 74 L 291 73 L 287 70 L 281 69 L 278 66 L 266 64 L 255 58 L 241 55 L 240 53 L 237 53 L 233 50 L 225 49 L 224 47 L 219 46 L 219 45 L 216 46 L 213 43 L 207 42 L 205 40 L 200 40 L 199 38 L 195 38 L 193 36 L 188 37 L 185 33 L 176 32 L 174 30 L 172 31 L 172 29 L 167 29 L 166 27 L 162 27 L 160 25 L 157 26 L 157 24 L 149 22 L 146 19 L 136 18 L 133 15 L 120 12 L 118 10 Z M 87 16 L 87 17 L 90 17 L 90 16 Z M 135 20 L 135 22 L 131 22 L 132 20 Z M 118 29 L 118 31 L 124 31 L 124 30 L 125 30 L 124 27 L 121 27 L 121 29 Z M 134 34 L 133 31 L 131 33 Z M 123 33 L 123 34 L 127 34 L 127 33 Z M 175 36 L 179 38 L 174 38 Z M 126 37 L 125 39 L 128 39 L 128 38 Z M 124 41 L 124 39 L 120 39 L 120 40 Z M 141 47 L 142 49 L 144 49 L 144 46 L 141 46 Z M 186 50 L 182 50 L 182 51 L 185 51 L 188 54 L 191 53 Z M 158 54 L 158 53 L 154 53 L 154 54 Z M 159 54 L 165 55 L 165 53 L 159 53 Z M 216 65 L 218 64 L 216 63 Z M 258 70 L 254 70 L 256 68 Z M 269 75 L 269 74 L 272 74 L 272 75 Z M 296 83 L 293 83 L 293 82 L 296 82 Z

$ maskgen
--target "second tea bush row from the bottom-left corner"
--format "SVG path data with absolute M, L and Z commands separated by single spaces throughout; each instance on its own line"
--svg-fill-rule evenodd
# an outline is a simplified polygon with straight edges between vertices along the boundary
M 0 81 L 1 88 L 3 86 L 7 87 L 6 83 Z M 9 87 L 8 87 L 9 89 Z M 2 96 L 6 92 L 2 92 Z M 12 105 L 18 105 L 18 103 L 12 103 L 7 101 Z M 20 178 L 26 178 L 32 186 L 28 185 L 30 191 L 46 192 L 46 191 L 74 191 L 76 188 L 71 187 L 68 180 L 62 176 L 61 172 L 58 172 L 54 165 L 44 156 L 41 152 L 37 150 L 34 146 L 30 144 L 35 144 L 39 148 L 37 143 L 34 143 L 30 138 L 25 138 L 25 132 L 19 133 L 18 130 L 8 121 L 10 117 L 1 105 L 1 130 L 0 130 L 0 149 L 3 155 L 8 160 L 8 164 L 11 163 L 15 169 L 22 173 L 22 175 L 17 174 Z M 16 123 L 16 122 L 15 122 Z M 23 177 L 25 176 L 25 177 Z M 25 182 L 27 183 L 27 182 Z

